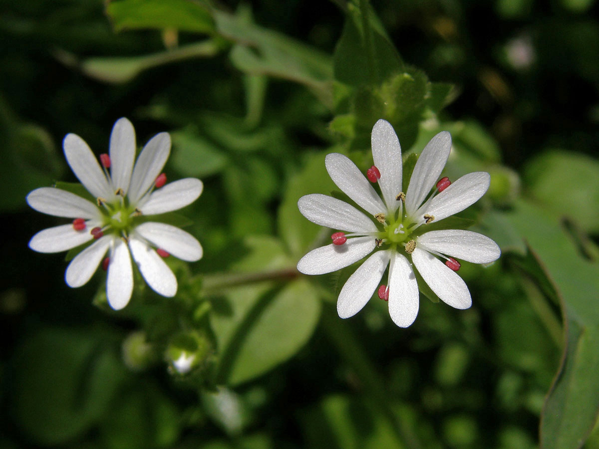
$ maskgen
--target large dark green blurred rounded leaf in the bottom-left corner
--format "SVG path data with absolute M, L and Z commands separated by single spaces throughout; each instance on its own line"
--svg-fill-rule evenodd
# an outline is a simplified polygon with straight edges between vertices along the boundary
M 105 335 L 90 329 L 40 329 L 15 357 L 13 416 L 42 445 L 65 444 L 97 424 L 124 377 Z

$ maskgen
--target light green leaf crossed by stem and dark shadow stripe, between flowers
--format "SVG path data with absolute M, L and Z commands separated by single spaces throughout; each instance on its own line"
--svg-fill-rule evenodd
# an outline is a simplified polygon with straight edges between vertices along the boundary
M 294 263 L 276 239 L 254 236 L 245 243 L 249 253 L 238 269 L 294 272 Z M 292 357 L 310 338 L 320 315 L 319 298 L 303 279 L 284 287 L 268 280 L 232 287 L 212 304 L 211 325 L 220 354 L 216 381 L 232 385 Z

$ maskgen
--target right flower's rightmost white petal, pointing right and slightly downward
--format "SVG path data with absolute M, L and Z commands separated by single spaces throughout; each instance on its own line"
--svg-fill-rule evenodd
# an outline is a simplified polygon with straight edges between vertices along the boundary
M 497 243 L 471 230 L 431 230 L 417 237 L 416 244 L 422 249 L 473 263 L 489 263 L 501 256 Z

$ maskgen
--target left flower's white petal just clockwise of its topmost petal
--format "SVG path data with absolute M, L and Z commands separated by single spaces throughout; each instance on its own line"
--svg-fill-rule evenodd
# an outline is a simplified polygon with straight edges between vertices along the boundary
M 137 202 L 156 181 L 171 152 L 171 136 L 161 132 L 151 138 L 135 162 L 127 196 Z

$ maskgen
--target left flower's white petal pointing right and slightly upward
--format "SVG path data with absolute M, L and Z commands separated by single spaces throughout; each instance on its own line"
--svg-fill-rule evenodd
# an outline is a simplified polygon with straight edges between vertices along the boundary
M 138 207 L 144 215 L 176 211 L 198 199 L 203 187 L 202 181 L 196 178 L 174 181 L 152 192 L 149 199 L 142 200 Z

